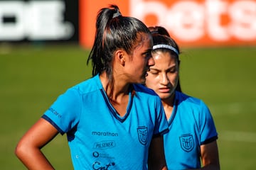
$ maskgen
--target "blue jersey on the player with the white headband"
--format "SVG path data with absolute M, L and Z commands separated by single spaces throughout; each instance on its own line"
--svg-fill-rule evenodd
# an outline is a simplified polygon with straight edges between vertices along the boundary
M 213 118 L 206 104 L 198 98 L 176 91 L 169 132 L 164 134 L 168 169 L 200 168 L 200 145 L 217 138 Z

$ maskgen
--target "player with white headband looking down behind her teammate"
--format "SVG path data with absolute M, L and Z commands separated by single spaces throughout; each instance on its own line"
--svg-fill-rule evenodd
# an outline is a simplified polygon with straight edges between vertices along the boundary
M 169 122 L 164 134 L 168 169 L 220 169 L 212 115 L 203 101 L 183 94 L 178 85 L 179 47 L 162 27 L 151 27 L 154 66 L 146 86 L 161 98 Z M 202 166 L 201 167 L 201 162 Z

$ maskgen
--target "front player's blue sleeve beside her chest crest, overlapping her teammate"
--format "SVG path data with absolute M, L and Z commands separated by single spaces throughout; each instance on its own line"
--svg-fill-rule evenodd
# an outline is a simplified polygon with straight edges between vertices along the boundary
M 156 100 L 156 114 L 154 136 L 163 135 L 164 133 L 168 132 L 168 122 L 160 98 L 157 98 Z

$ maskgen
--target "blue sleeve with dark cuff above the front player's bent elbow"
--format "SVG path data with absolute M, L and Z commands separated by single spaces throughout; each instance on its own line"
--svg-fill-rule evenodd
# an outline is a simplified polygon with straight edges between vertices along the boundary
M 68 89 L 43 114 L 42 118 L 51 123 L 62 135 L 78 123 L 81 110 L 81 96 L 75 89 Z

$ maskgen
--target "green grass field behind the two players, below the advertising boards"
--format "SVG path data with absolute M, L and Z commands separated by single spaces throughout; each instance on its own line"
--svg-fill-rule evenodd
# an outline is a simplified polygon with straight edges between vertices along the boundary
M 181 87 L 213 114 L 221 168 L 255 169 L 256 47 L 182 51 Z M 77 45 L 0 45 L 1 169 L 25 169 L 14 155 L 16 143 L 58 95 L 91 76 L 87 55 Z M 55 169 L 73 169 L 65 135 L 43 152 Z

